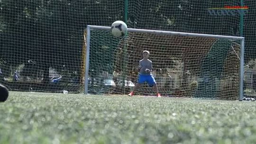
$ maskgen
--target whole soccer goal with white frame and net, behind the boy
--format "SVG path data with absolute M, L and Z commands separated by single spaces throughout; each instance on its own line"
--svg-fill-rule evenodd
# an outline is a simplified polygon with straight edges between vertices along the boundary
M 85 93 L 128 94 L 137 83 L 142 52 L 150 52 L 163 96 L 241 99 L 244 38 L 128 28 L 116 38 L 110 27 L 85 33 Z M 146 83 L 136 95 L 155 95 Z

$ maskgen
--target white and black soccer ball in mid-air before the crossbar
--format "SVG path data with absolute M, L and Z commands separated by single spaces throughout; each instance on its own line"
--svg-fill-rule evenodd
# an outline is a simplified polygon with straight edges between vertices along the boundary
M 115 37 L 124 36 L 127 33 L 127 25 L 125 22 L 118 20 L 111 25 L 111 34 Z

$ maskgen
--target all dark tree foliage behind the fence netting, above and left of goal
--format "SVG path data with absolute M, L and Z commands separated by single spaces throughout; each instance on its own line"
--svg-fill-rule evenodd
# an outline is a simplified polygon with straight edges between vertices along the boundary
M 86 25 L 110 26 L 115 20 L 124 20 L 124 1 L 0 0 L 0 61 L 6 62 L 1 66 L 4 67 L 4 74 L 10 73 L 9 67 L 25 64 L 27 71 L 34 69 L 45 73 L 44 81 L 48 81 L 49 67 L 58 72 L 66 71 L 63 73 L 67 76 L 76 73 L 79 78 L 82 75 L 83 31 Z M 239 27 L 238 15 L 217 17 L 211 16 L 207 10 L 240 5 L 239 0 L 128 1 L 130 28 L 229 36 L 238 36 L 242 28 Z M 243 25 L 246 37 L 245 60 L 249 61 L 256 56 L 256 4 L 252 0 L 244 0 L 244 4 L 249 7 Z M 97 48 L 102 46 L 110 50 L 112 48 L 109 45 Z M 110 73 L 113 66 L 111 56 L 104 60 L 108 62 L 105 70 Z M 28 60 L 37 64 L 31 66 L 27 64 Z

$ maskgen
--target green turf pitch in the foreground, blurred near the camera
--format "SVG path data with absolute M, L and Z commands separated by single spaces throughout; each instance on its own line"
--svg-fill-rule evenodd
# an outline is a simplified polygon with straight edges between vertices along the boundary
M 253 144 L 256 102 L 10 92 L 0 144 Z

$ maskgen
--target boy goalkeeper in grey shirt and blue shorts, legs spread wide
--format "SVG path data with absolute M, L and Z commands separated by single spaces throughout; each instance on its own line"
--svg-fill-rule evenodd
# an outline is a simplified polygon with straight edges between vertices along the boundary
M 135 85 L 132 92 L 128 94 L 128 96 L 133 96 L 134 92 L 137 90 L 140 84 L 143 84 L 145 81 L 148 83 L 150 87 L 153 87 L 156 92 L 157 97 L 161 97 L 160 93 L 158 92 L 157 84 L 155 82 L 155 78 L 152 74 L 152 62 L 148 59 L 149 52 L 143 51 L 142 52 L 143 59 L 139 61 L 139 65 L 137 67 L 138 74 L 138 82 Z

